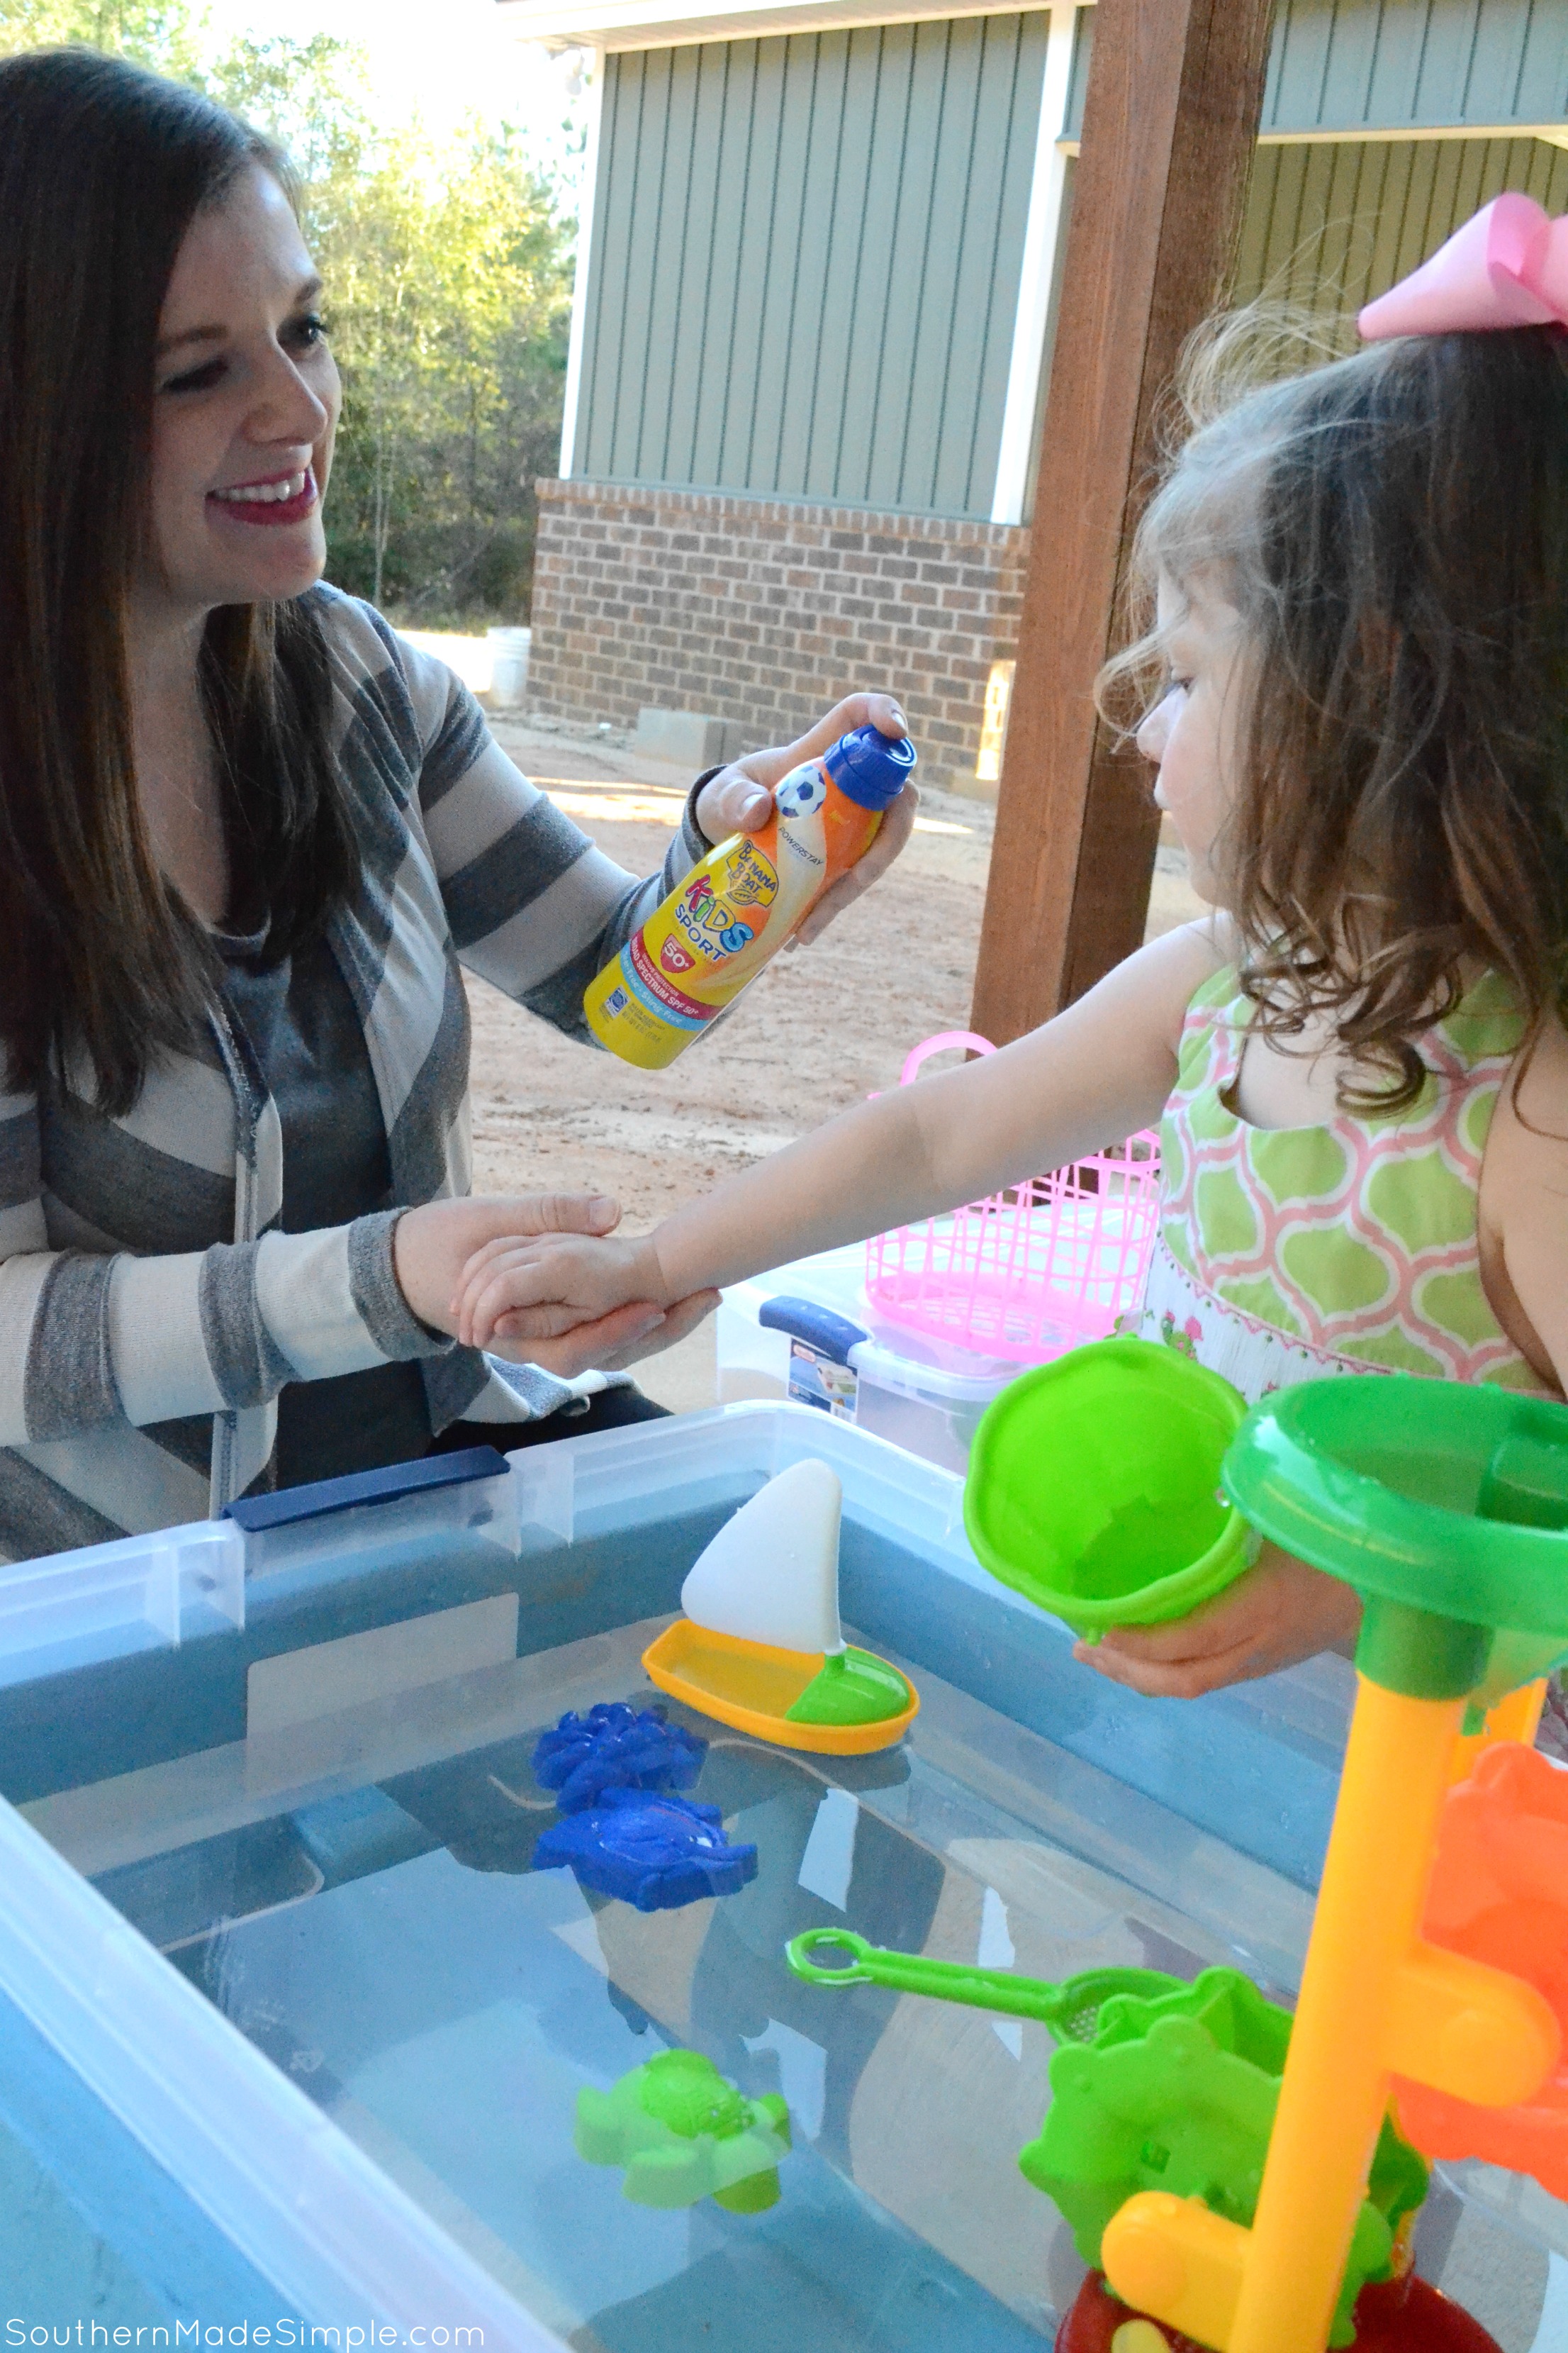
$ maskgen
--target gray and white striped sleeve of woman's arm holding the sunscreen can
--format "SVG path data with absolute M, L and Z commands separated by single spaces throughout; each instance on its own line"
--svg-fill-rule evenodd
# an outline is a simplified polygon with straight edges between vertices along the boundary
M 529 1012 L 588 1038 L 583 991 L 705 856 L 691 800 L 646 880 L 607 859 L 508 760 L 468 687 L 397 640 L 418 718 L 421 809 L 458 958 Z

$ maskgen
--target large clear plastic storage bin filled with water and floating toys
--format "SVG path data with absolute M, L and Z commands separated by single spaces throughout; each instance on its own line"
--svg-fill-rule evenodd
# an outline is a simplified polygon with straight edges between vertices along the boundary
M 722 1901 L 534 1871 L 538 1732 L 651 1699 L 696 1553 L 804 1457 L 910 1737 L 832 1760 L 689 1718 L 696 1795 L 759 1854 Z M 978 1569 L 957 1475 L 799 1405 L 0 1569 L 5 2313 L 172 2348 L 1046 2353 L 1081 2266 L 1016 2162 L 1044 2028 L 823 1993 L 783 1944 L 1288 1993 L 1347 1689 L 1321 1661 L 1133 1699 Z M 578 2092 L 672 2047 L 788 2101 L 771 2209 L 639 2207 L 574 2148 Z M 1490 2195 L 1439 2188 L 1418 2254 L 1526 2353 L 1563 2212 Z

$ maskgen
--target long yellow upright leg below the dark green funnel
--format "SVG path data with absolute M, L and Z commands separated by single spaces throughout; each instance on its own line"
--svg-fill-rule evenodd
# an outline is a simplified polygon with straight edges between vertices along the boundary
M 1340 1805 L 1227 2353 L 1324 2353 L 1389 2099 L 1462 1699 L 1359 1678 Z

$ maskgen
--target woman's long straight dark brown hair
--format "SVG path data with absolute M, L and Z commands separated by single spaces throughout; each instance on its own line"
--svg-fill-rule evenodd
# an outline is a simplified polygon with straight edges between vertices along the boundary
M 284 176 L 223 108 L 118 59 L 0 64 L 0 1047 L 12 1087 L 85 1059 L 103 1113 L 212 1000 L 141 824 L 122 616 L 174 259 L 256 162 Z M 282 955 L 353 875 L 327 647 L 308 602 L 235 605 L 200 661 L 230 866 Z

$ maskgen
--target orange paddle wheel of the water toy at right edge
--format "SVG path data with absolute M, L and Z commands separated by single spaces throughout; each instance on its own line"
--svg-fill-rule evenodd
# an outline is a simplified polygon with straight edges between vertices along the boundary
M 1429 2158 L 1483 2158 L 1568 2198 L 1568 1774 L 1535 1748 L 1488 1748 L 1448 1795 L 1425 1932 L 1535 1986 L 1563 2028 L 1563 2057 L 1516 2108 L 1401 2080 L 1403 2132 Z

